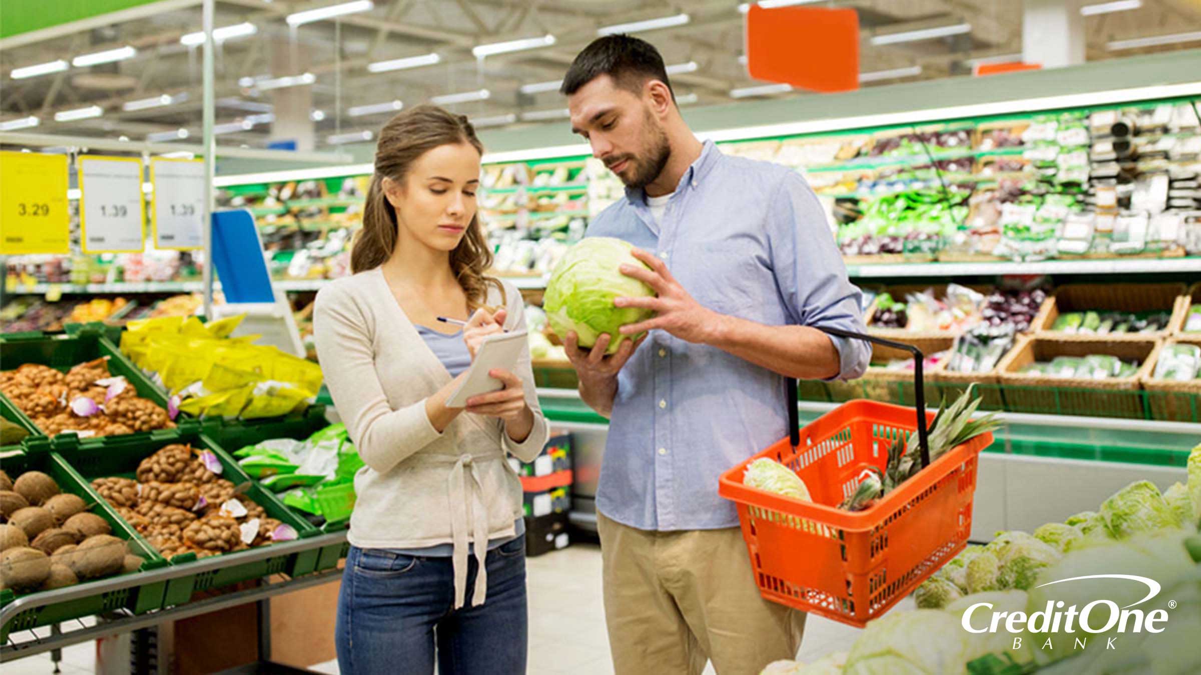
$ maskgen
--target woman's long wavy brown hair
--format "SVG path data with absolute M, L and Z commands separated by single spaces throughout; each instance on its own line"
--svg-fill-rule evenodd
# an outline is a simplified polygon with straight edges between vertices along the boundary
M 404 185 L 413 162 L 441 145 L 468 143 L 484 154 L 484 145 L 476 138 L 476 130 L 467 115 L 456 115 L 437 106 L 417 106 L 388 120 L 380 131 L 376 144 L 375 174 L 363 208 L 363 229 L 354 237 L 351 249 L 351 271 L 358 274 L 382 265 L 396 249 L 396 211 L 383 192 L 383 179 Z M 497 279 L 484 274 L 492 267 L 492 251 L 488 247 L 479 214 L 472 216 L 462 240 L 450 251 L 450 269 L 467 295 L 467 306 L 474 311 L 486 304 L 489 285 L 496 286 L 502 297 L 504 287 Z

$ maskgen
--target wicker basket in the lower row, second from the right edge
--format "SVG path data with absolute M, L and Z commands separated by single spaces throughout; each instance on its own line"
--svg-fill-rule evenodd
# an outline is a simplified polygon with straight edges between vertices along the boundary
M 1005 392 L 1005 410 L 1041 414 L 1080 414 L 1145 419 L 1141 382 L 1159 353 L 1157 340 L 1051 340 L 1023 338 L 1000 360 L 997 371 Z M 1130 377 L 1085 380 L 1021 372 L 1035 362 L 1056 357 L 1109 354 L 1139 362 Z

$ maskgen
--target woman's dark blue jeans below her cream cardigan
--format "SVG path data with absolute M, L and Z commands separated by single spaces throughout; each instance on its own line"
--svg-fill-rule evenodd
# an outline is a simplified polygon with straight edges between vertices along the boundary
M 352 546 L 337 597 L 342 675 L 521 675 L 526 670 L 525 536 L 484 558 L 488 599 L 471 607 L 478 563 L 468 558 L 466 604 L 454 605 L 450 557 Z

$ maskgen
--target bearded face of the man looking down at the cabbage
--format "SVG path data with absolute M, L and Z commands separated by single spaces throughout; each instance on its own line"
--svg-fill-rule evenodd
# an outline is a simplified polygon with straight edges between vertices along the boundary
M 643 96 L 603 74 L 567 98 L 572 131 L 592 145 L 592 156 L 629 187 L 658 178 L 671 156 L 667 132 Z

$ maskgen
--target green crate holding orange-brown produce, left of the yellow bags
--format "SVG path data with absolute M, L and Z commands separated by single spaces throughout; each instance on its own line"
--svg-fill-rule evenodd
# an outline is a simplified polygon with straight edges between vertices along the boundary
M 150 378 L 141 369 L 125 358 L 125 354 L 113 342 L 98 333 L 85 331 L 79 335 L 18 333 L 0 336 L 0 363 L 4 363 L 5 370 L 36 363 L 66 372 L 76 365 L 102 357 L 108 357 L 108 371 L 114 377 L 124 376 L 137 390 L 138 396 L 167 410 L 167 395 L 150 382 Z M 198 423 L 186 413 L 180 413 L 175 424 L 179 431 L 198 429 Z M 127 436 L 149 438 L 151 434 L 155 431 L 139 431 Z M 59 434 L 54 436 L 55 441 L 59 438 L 77 438 L 77 435 Z

